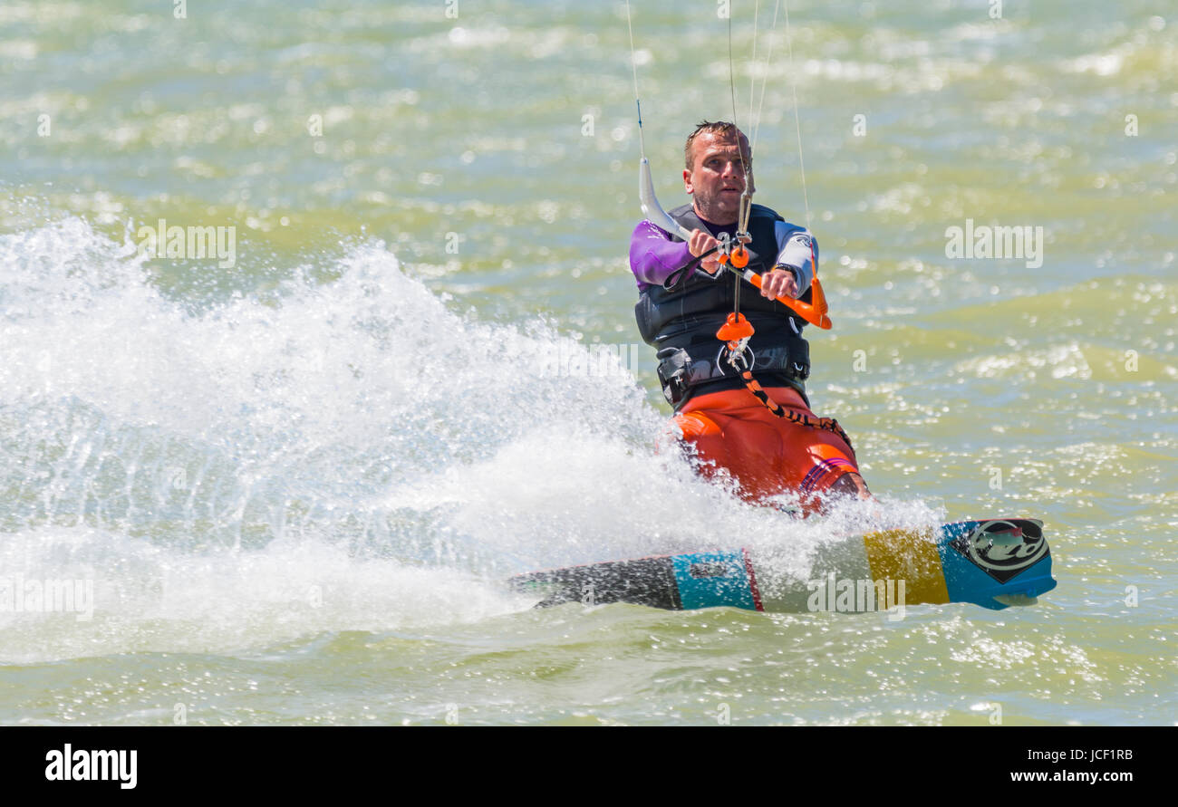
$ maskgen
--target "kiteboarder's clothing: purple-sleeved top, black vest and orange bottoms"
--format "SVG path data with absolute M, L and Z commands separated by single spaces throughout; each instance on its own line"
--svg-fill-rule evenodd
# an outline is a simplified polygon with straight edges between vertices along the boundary
M 753 211 L 749 267 L 757 272 L 775 266 L 792 270 L 799 297 L 808 299 L 818 245 L 805 229 L 782 220 L 768 207 L 754 205 Z M 704 230 L 717 238 L 736 230 L 735 224 L 700 219 L 688 206 L 670 211 L 670 216 L 688 230 Z M 694 444 L 706 475 L 726 469 L 750 501 L 796 491 L 803 511 L 812 512 L 821 494 L 846 474 L 858 475 L 859 469 L 846 434 L 834 421 L 819 418 L 809 409 L 805 388 L 809 348 L 801 337 L 803 320 L 748 284 L 741 290 L 741 313 L 756 330 L 748 353 L 753 376 L 783 408 L 787 417 L 780 417 L 720 360 L 722 343 L 715 333 L 733 310 L 733 276 L 717 272 L 713 277 L 696 270 L 675 289 L 663 287 L 689 260 L 690 250 L 677 236 L 649 221 L 635 227 L 630 239 L 630 269 L 640 292 L 635 312 L 643 339 L 659 349 L 660 381 L 675 408 L 674 423 L 683 439 Z

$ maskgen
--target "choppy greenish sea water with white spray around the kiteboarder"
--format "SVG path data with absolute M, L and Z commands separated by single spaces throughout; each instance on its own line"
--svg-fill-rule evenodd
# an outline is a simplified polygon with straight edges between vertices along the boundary
M 0 576 L 91 581 L 92 613 L 0 611 L 0 722 L 1173 723 L 1178 20 L 789 11 L 814 406 L 887 517 L 1043 518 L 1039 606 L 499 584 L 733 541 L 805 576 L 861 516 L 782 523 L 655 450 L 624 6 L 8 2 Z M 671 206 L 687 132 L 732 115 L 727 22 L 634 13 Z M 783 19 L 750 70 L 752 14 L 737 121 L 767 74 L 757 201 L 802 220 Z M 236 227 L 234 260 L 139 254 L 159 219 Z M 1041 266 L 947 258 L 966 219 L 1041 226 Z

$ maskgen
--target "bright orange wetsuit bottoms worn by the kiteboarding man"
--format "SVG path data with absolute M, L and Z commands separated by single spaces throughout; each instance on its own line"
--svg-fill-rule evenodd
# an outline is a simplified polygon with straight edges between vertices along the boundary
M 749 501 L 795 491 L 803 512 L 813 512 L 840 477 L 859 474 L 855 451 L 838 425 L 832 428 L 834 421 L 814 415 L 798 390 L 765 391 L 794 418 L 774 415 L 741 388 L 691 398 L 674 422 L 695 445 L 703 474 L 728 470 Z

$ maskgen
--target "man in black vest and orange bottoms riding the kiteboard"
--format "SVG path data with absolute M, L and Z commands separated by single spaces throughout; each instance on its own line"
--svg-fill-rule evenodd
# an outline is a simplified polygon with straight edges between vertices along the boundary
M 748 267 L 762 273 L 760 293 L 720 272 L 715 253 L 694 272 L 677 271 L 708 253 L 723 233 L 735 234 L 746 181 L 750 194 L 755 190 L 748 156 L 748 139 L 729 123 L 703 121 L 688 137 L 683 187 L 693 203 L 669 214 L 691 231 L 691 238 L 683 242 L 649 221 L 635 227 L 630 239 L 630 269 L 638 283 L 635 315 L 642 338 L 659 349 L 663 393 L 675 408 L 674 423 L 683 439 L 702 461 L 701 470 L 708 475 L 727 470 L 750 501 L 795 491 L 802 512 L 809 515 L 821 511 L 830 495 L 871 498 L 846 432 L 809 409 L 805 320 L 774 299 L 809 300 L 818 244 L 802 227 L 753 205 Z M 673 283 L 664 287 L 668 278 Z M 781 408 L 776 414 L 724 360 L 723 343 L 716 338 L 737 293 L 740 312 L 755 329 L 743 359 L 756 384 Z

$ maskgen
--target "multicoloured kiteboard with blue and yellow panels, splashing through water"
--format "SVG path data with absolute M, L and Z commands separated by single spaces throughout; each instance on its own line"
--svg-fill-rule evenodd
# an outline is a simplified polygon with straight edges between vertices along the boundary
M 565 602 L 759 611 L 882 611 L 968 602 L 1000 610 L 1034 604 L 1055 588 L 1043 522 L 988 518 L 888 529 L 823 543 L 805 580 L 787 548 L 659 555 L 516 575 L 516 591 Z

